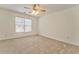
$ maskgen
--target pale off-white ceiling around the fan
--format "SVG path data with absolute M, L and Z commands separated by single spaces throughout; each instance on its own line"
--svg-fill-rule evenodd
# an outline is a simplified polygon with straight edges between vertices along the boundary
M 24 7 L 30 7 L 32 8 L 32 4 L 0 4 L 1 8 L 5 8 L 8 10 L 12 10 L 12 11 L 16 11 L 19 13 L 24 13 L 26 12 L 26 14 L 29 14 L 28 12 L 32 11 L 31 9 L 25 9 Z M 53 12 L 57 12 L 57 11 L 61 11 L 67 8 L 71 8 L 73 6 L 76 6 L 74 4 L 41 4 L 40 5 L 42 8 L 46 9 L 45 13 L 41 13 L 39 16 L 44 15 L 46 13 L 53 13 Z

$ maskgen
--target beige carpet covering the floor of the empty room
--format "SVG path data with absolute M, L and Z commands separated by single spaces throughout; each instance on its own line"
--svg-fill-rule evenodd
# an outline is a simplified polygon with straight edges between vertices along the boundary
M 28 36 L 0 41 L 0 53 L 79 53 L 79 47 L 43 36 Z

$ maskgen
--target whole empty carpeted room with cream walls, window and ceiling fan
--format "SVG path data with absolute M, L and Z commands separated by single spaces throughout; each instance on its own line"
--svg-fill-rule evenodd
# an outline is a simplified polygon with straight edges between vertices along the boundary
M 0 4 L 0 54 L 78 53 L 78 4 Z

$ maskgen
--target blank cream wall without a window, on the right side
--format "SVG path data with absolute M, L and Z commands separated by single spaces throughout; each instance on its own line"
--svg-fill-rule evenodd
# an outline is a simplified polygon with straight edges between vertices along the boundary
M 79 46 L 79 6 L 41 17 L 39 34 Z

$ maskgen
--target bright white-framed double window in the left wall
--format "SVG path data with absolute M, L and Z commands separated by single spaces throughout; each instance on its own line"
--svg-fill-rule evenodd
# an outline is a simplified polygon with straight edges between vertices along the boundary
M 32 20 L 16 17 L 16 32 L 31 32 Z

